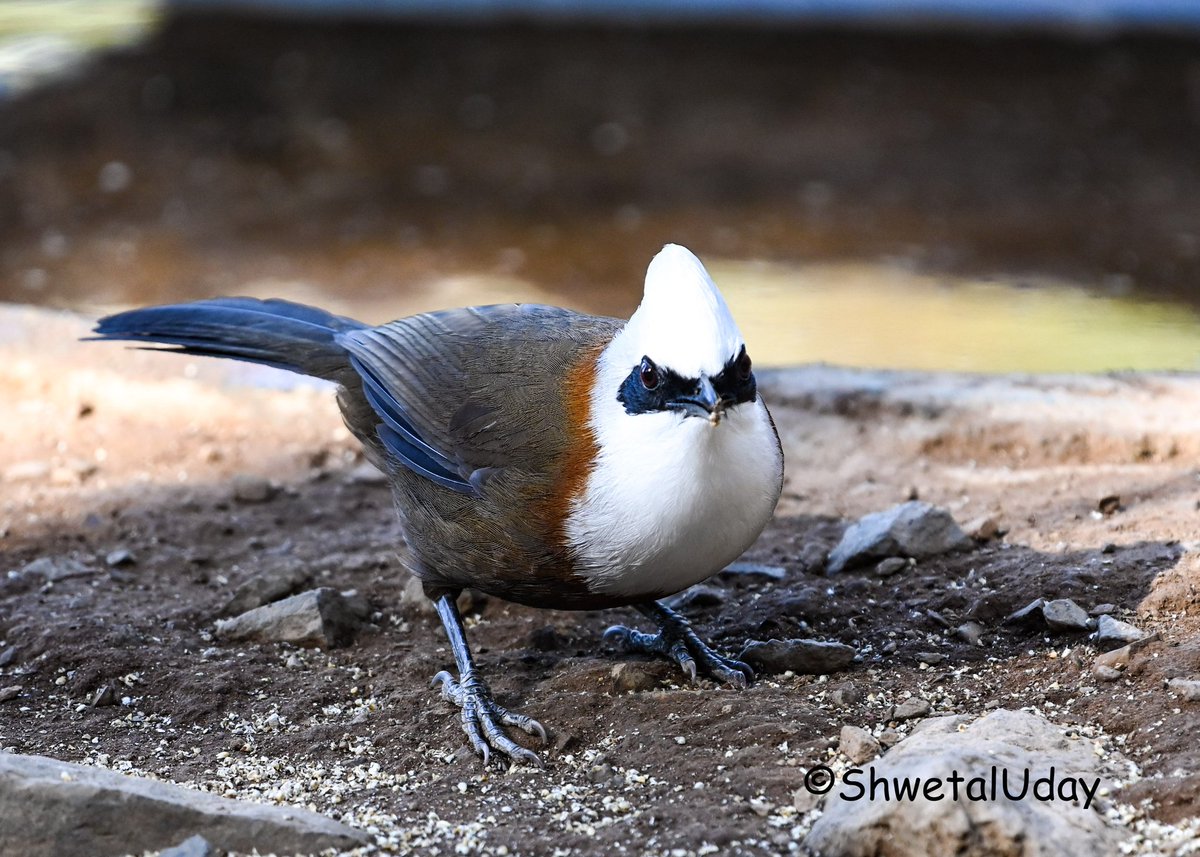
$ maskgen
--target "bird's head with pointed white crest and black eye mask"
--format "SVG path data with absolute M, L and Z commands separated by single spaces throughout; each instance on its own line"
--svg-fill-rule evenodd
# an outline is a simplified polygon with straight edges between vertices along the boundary
M 646 271 L 646 294 L 602 362 L 630 416 L 678 414 L 718 425 L 757 395 L 750 355 L 700 259 L 668 244 Z

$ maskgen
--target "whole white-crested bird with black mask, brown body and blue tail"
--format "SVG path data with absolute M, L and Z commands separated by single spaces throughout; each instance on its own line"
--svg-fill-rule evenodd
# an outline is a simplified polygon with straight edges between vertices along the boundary
M 746 343 L 703 263 L 668 244 L 628 320 L 534 304 L 371 326 L 281 299 L 214 298 L 101 318 L 90 340 L 232 358 L 335 382 L 349 431 L 388 477 L 409 570 L 454 672 L 432 684 L 473 750 L 541 766 L 497 702 L 456 599 L 473 588 L 554 610 L 632 606 L 656 630 L 605 639 L 734 688 L 744 663 L 661 599 L 716 574 L 770 521 L 784 454 Z

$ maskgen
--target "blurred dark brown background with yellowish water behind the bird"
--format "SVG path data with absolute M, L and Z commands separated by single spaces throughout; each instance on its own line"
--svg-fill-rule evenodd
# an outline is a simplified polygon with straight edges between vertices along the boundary
M 10 0 L 0 300 L 628 314 L 679 241 L 769 362 L 1196 367 L 1200 5 L 978 6 Z

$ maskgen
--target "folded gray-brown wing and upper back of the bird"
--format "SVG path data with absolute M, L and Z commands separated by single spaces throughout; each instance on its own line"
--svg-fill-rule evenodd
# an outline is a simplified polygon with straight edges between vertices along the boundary
M 623 322 L 532 304 L 446 310 L 341 332 L 384 449 L 464 495 L 544 474 L 565 443 L 569 370 Z M 359 428 L 361 426 L 352 426 Z

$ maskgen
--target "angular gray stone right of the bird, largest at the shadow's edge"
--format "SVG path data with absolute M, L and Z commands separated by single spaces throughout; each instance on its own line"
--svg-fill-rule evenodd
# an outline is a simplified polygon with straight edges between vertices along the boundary
M 936 557 L 972 544 L 948 511 L 910 501 L 852 523 L 829 555 L 826 571 L 836 574 L 882 557 Z

